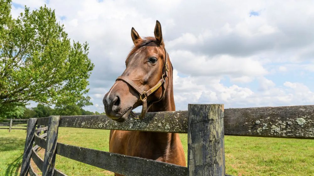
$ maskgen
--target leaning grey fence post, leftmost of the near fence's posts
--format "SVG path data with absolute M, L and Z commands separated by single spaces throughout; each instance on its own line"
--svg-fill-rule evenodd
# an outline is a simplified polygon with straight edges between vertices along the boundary
M 20 176 L 28 175 L 28 169 L 30 168 L 30 157 L 32 156 L 32 148 L 34 143 L 36 122 L 37 118 L 30 118 L 27 122 L 27 134 Z

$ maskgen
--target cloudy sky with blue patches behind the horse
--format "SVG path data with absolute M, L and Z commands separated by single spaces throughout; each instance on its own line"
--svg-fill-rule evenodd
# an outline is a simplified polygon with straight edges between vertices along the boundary
M 55 9 L 69 37 L 89 43 L 93 106 L 125 69 L 134 27 L 154 36 L 156 19 L 174 67 L 176 110 L 188 103 L 225 108 L 314 104 L 314 1 L 13 0 Z

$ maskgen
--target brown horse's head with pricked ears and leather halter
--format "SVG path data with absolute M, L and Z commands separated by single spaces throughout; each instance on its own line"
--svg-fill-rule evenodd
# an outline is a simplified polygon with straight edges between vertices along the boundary
M 106 115 L 113 120 L 124 121 L 141 105 L 139 118 L 143 118 L 150 106 L 165 96 L 171 63 L 159 21 L 156 21 L 154 35 L 142 39 L 131 29 L 134 47 L 125 61 L 126 69 L 103 98 Z

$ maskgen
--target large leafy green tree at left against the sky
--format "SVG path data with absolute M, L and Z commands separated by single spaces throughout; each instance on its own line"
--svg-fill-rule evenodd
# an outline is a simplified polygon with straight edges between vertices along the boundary
M 54 10 L 25 7 L 12 19 L 10 3 L 0 0 L 0 118 L 29 101 L 91 105 L 84 96 L 94 68 L 88 44 L 71 45 Z

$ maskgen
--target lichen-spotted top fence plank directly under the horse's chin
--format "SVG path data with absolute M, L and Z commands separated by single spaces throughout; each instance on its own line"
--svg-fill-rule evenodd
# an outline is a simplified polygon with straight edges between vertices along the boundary
M 148 112 L 144 119 L 129 116 L 124 122 L 116 122 L 106 115 L 61 116 L 60 127 L 184 133 L 187 132 L 187 111 Z

